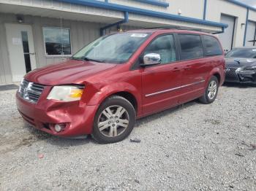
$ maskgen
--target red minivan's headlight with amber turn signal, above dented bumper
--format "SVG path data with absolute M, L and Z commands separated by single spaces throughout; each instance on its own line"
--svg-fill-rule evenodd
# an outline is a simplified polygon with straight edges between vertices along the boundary
M 47 99 L 59 101 L 78 101 L 83 95 L 84 86 L 59 85 L 54 86 Z

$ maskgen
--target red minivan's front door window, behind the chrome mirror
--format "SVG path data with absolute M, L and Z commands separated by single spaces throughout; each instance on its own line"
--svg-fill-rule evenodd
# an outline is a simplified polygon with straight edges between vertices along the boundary
M 159 36 L 146 47 L 144 55 L 157 53 L 161 56 L 161 63 L 171 63 L 177 60 L 173 35 Z

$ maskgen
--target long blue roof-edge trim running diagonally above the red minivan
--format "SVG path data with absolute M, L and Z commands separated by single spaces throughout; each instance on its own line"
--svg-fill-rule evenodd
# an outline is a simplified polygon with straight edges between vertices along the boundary
M 159 18 L 165 18 L 169 20 L 177 20 L 177 21 L 182 21 L 187 23 L 197 23 L 205 26 L 215 26 L 215 27 L 224 27 L 224 28 L 227 28 L 228 26 L 225 23 L 217 23 L 213 21 L 201 20 L 201 19 L 192 18 L 192 17 L 172 15 L 165 12 L 157 12 L 157 11 L 151 11 L 148 9 L 128 7 L 120 4 L 106 3 L 104 1 L 95 1 L 95 0 L 56 0 L 56 1 L 62 1 L 70 4 L 81 4 L 89 7 L 110 9 L 110 10 L 121 11 L 121 12 L 129 12 L 129 13 L 134 13 L 138 15 L 146 15 L 149 17 L 159 17 Z

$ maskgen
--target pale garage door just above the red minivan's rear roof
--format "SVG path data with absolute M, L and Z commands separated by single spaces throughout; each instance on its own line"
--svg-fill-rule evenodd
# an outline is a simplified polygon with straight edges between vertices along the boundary
M 229 51 L 233 48 L 235 21 L 236 17 L 231 17 L 227 15 L 221 16 L 220 22 L 228 25 L 228 28 L 225 29 L 225 33 L 219 34 L 219 40 L 220 42 L 222 42 L 222 47 L 225 51 Z

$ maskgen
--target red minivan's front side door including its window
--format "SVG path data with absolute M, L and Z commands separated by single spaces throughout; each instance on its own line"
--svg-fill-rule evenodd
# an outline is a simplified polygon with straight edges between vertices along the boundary
M 143 55 L 157 53 L 161 63 L 141 69 L 143 114 L 151 114 L 178 104 L 181 70 L 176 63 L 173 35 L 159 36 L 148 45 Z

